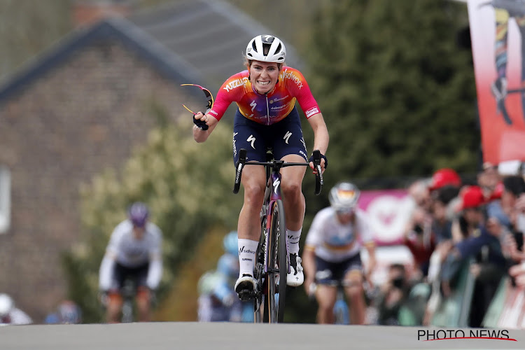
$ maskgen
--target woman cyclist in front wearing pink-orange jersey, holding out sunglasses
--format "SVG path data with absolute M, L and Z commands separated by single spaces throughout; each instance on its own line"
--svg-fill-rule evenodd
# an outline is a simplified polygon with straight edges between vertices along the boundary
M 193 137 L 204 142 L 213 132 L 219 120 L 232 102 L 237 103 L 233 127 L 233 158 L 238 160 L 237 150 L 247 150 L 248 161 L 266 161 L 266 149 L 273 148 L 274 158 L 286 162 L 304 162 L 308 157 L 302 137 L 299 113 L 295 101 L 314 130 L 314 149 L 321 151 L 321 169 L 328 164 L 324 156 L 328 148 L 328 130 L 311 95 L 309 86 L 300 71 L 284 65 L 286 48 L 279 38 L 259 35 L 251 39 L 244 56 L 245 71 L 225 81 L 217 93 L 215 104 L 209 113 L 197 113 L 194 117 Z M 310 167 L 314 169 L 313 162 Z M 286 212 L 286 234 L 290 248 L 290 274 L 287 283 L 300 286 L 304 281 L 299 239 L 304 219 L 304 196 L 302 167 L 286 167 L 281 188 Z M 314 170 L 314 172 L 316 172 Z M 260 238 L 260 208 L 264 200 L 266 173 L 264 167 L 246 167 L 241 183 L 244 187 L 244 205 L 239 214 L 239 279 L 235 291 L 253 290 L 253 267 L 255 251 Z

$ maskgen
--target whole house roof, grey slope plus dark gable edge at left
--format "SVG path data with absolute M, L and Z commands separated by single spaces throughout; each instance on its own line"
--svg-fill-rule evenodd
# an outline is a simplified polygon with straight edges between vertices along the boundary
M 0 82 L 0 102 L 101 38 L 120 41 L 176 83 L 196 83 L 213 92 L 242 70 L 245 45 L 258 34 L 272 33 L 223 0 L 178 1 L 129 19 L 109 18 L 72 31 Z M 291 45 L 286 48 L 288 56 L 297 57 Z M 288 63 L 301 66 L 298 59 Z

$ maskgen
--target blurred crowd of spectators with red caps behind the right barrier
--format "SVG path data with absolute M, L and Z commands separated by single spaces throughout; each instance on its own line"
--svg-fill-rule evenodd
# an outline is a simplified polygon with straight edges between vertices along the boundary
M 415 272 L 391 267 L 369 323 L 523 328 L 523 174 L 486 163 L 467 183 L 440 169 L 408 193 L 414 206 L 403 244 Z

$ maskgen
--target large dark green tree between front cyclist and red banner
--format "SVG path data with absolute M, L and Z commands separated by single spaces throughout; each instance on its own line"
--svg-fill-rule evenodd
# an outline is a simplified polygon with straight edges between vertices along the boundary
M 471 53 L 456 45 L 466 11 L 452 1 L 346 0 L 316 15 L 307 78 L 330 132 L 330 183 L 475 172 Z

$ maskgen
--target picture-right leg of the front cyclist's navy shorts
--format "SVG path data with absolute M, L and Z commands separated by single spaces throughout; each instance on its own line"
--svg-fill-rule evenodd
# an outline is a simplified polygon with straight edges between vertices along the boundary
M 279 123 L 270 127 L 272 129 L 271 136 L 275 159 L 284 159 L 286 155 L 298 155 L 300 157 L 291 160 L 293 162 L 304 162 L 308 159 L 297 108 L 293 109 Z

